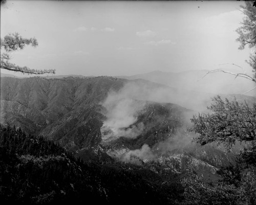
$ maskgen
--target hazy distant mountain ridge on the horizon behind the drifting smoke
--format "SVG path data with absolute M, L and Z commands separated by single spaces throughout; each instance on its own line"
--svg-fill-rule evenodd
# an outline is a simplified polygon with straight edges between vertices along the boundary
M 174 88 L 212 94 L 243 94 L 255 86 L 254 82 L 245 78 L 238 77 L 234 79 L 234 76 L 222 72 L 211 73 L 205 76 L 207 72 L 209 70 L 191 70 L 180 73 L 154 71 L 119 77 L 130 80 L 145 79 Z M 253 90 L 246 95 L 256 96 L 256 92 Z

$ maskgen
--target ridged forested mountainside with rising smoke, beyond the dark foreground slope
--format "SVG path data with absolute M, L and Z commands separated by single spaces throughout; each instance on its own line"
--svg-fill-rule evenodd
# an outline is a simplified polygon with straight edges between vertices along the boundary
M 197 113 L 191 108 L 205 109 L 212 96 L 142 79 L 4 77 L 1 78 L 1 123 L 42 135 L 87 161 L 136 159 L 134 162 L 141 164 L 145 160 L 155 161 L 163 153 L 186 158 L 185 145 L 190 142 L 191 134 L 184 130 Z M 248 104 L 255 102 L 249 96 L 236 98 L 247 100 Z M 173 153 L 174 146 L 180 147 L 178 152 Z M 203 151 L 199 149 L 196 153 L 198 160 L 205 160 L 200 159 Z M 191 158 L 194 156 L 189 155 L 194 163 Z M 221 163 L 210 166 L 225 164 L 226 160 L 217 155 Z

